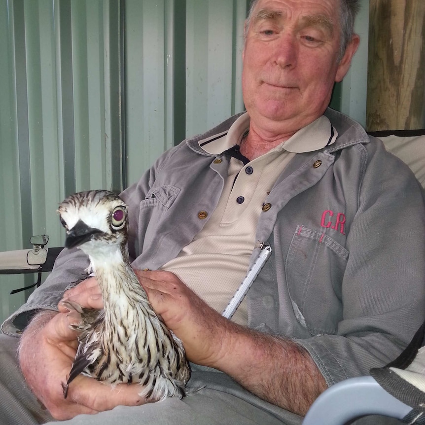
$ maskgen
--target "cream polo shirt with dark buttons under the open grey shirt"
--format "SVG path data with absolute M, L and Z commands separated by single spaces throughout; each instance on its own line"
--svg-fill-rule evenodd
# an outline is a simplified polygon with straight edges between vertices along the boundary
M 239 145 L 249 129 L 248 113 L 241 115 L 228 132 L 201 140 L 209 153 L 222 154 Z M 290 139 L 246 164 L 230 158 L 228 177 L 218 205 L 193 241 L 163 270 L 175 273 L 213 309 L 222 313 L 243 281 L 257 242 L 255 229 L 262 206 L 283 169 L 299 152 L 310 152 L 335 142 L 337 132 L 321 116 Z M 248 323 L 243 301 L 232 320 Z

